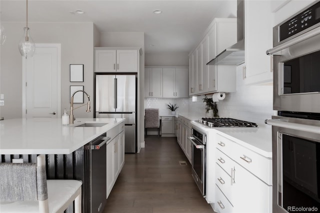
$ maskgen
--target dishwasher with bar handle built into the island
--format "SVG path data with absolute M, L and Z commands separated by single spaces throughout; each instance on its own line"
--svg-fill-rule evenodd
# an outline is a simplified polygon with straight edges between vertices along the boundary
M 91 213 L 102 212 L 106 203 L 106 133 L 91 141 Z

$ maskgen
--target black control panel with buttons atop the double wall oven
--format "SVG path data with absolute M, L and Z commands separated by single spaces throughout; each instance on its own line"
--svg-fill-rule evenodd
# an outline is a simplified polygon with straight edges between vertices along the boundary
M 320 22 L 320 1 L 279 25 L 279 41 Z

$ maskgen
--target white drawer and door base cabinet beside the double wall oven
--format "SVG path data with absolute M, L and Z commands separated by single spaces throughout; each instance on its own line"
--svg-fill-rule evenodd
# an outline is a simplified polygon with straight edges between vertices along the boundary
M 217 135 L 215 211 L 271 212 L 271 182 L 265 182 L 269 181 L 269 177 L 260 170 L 266 170 L 267 176 L 271 176 L 269 168 L 272 160 L 262 155 L 254 156 L 254 153 L 224 136 Z M 225 211 L 222 206 L 228 210 Z

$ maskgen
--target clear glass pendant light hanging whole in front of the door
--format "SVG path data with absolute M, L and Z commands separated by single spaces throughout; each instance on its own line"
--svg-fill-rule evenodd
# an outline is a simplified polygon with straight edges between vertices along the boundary
M 30 29 L 28 27 L 28 0 L 26 0 L 26 27 L 24 27 L 23 29 L 24 34 L 18 44 L 19 51 L 25 58 L 27 56 L 32 57 L 35 50 L 35 44 L 30 36 Z

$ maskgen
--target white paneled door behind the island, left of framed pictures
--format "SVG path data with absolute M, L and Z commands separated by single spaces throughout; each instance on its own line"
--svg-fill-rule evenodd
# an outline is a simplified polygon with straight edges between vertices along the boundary
M 60 117 L 60 51 L 60 44 L 36 44 L 33 56 L 22 58 L 22 117 Z

